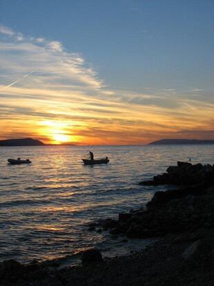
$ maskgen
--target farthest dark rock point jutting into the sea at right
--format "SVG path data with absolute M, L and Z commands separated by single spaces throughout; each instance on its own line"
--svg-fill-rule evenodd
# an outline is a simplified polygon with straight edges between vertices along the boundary
M 206 187 L 214 184 L 214 165 L 191 164 L 177 162 L 177 166 L 169 166 L 166 173 L 155 175 L 153 180 L 143 181 L 139 184 L 153 185 L 175 184 L 179 186 L 190 186 L 201 184 Z

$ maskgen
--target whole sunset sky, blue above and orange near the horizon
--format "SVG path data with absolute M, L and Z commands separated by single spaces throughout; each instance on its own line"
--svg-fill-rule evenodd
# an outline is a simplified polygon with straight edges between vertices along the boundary
M 213 0 L 0 0 L 0 140 L 214 140 Z

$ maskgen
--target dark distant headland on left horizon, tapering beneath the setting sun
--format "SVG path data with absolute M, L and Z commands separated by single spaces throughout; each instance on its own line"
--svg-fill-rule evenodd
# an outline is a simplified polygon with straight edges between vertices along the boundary
M 19 139 L 7 139 L 0 140 L 0 146 L 77 146 L 72 143 L 62 143 L 62 144 L 45 144 L 40 140 L 35 140 L 32 138 L 19 138 Z

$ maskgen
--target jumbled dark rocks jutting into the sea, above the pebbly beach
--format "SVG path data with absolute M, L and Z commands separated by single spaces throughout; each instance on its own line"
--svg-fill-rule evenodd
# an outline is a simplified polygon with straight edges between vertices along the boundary
M 155 176 L 152 183 L 176 181 L 187 186 L 157 191 L 145 209 L 119 213 L 118 220 L 108 218 L 101 222 L 102 227 L 114 236 L 123 234 L 129 238 L 153 238 L 214 227 L 213 166 L 177 162 L 167 172 Z

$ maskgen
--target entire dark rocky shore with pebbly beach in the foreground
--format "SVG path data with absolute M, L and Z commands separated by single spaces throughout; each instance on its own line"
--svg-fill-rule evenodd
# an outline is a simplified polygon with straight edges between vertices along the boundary
M 177 162 L 140 184 L 177 187 L 158 191 L 146 207 L 97 222 L 90 230 L 127 239 L 159 238 L 154 245 L 112 259 L 91 249 L 81 266 L 60 270 L 7 260 L 1 263 L 1 285 L 214 285 L 214 166 Z

